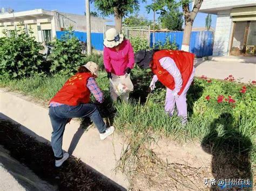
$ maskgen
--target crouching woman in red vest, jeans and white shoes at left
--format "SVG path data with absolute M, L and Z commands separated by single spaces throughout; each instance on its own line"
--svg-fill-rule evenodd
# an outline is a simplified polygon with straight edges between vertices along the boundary
M 65 126 L 71 118 L 90 117 L 102 140 L 114 132 L 113 126 L 106 128 L 96 105 L 89 103 L 91 93 L 97 102 L 104 101 L 103 93 L 95 81 L 98 68 L 94 62 L 87 62 L 86 65 L 79 67 L 78 73 L 70 77 L 50 101 L 49 115 L 53 129 L 51 144 L 56 167 L 61 166 L 69 158 L 68 153 L 63 154 L 62 139 Z

